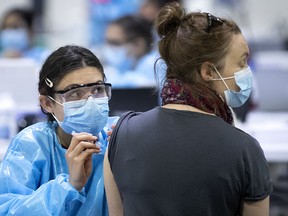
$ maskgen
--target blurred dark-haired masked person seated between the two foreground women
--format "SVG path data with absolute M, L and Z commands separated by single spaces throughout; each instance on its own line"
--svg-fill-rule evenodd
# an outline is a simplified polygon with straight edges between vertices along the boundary
M 127 15 L 108 25 L 101 60 L 114 87 L 155 86 L 157 54 L 150 23 L 142 17 Z

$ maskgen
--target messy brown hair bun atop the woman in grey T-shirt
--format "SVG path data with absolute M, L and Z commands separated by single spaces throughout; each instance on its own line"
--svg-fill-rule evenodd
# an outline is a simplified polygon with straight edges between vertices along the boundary
M 185 15 L 186 12 L 179 3 L 173 2 L 166 4 L 159 11 L 155 21 L 155 28 L 158 35 L 165 37 L 167 34 L 176 31 Z

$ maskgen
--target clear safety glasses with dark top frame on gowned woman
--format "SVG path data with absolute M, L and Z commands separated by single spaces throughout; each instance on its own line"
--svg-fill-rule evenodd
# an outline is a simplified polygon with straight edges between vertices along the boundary
M 89 96 L 94 98 L 111 98 L 110 83 L 88 83 L 74 85 L 65 90 L 54 91 L 55 94 L 60 94 L 63 102 L 78 101 L 87 99 Z

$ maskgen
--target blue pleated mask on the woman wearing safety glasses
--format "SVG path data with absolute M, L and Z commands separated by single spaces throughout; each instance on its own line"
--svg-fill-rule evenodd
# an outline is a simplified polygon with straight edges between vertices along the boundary
M 60 122 L 53 116 L 60 127 L 68 134 L 87 132 L 97 135 L 107 124 L 108 97 L 89 97 L 85 100 L 65 102 L 63 106 L 64 120 Z

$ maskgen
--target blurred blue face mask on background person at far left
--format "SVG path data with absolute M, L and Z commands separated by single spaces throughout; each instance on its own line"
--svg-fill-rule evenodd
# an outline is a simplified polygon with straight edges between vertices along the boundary
M 23 51 L 29 46 L 28 32 L 24 28 L 4 29 L 0 33 L 0 47 L 6 50 Z

